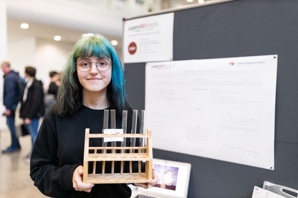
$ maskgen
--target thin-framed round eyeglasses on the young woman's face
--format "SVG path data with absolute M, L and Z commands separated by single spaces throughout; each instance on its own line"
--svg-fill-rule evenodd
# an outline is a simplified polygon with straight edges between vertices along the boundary
M 96 63 L 96 67 L 100 71 L 106 71 L 110 69 L 112 62 L 105 59 L 100 59 L 97 62 L 89 62 L 87 60 L 77 61 L 75 64 L 77 65 L 78 70 L 82 72 L 89 71 L 91 68 L 91 63 Z

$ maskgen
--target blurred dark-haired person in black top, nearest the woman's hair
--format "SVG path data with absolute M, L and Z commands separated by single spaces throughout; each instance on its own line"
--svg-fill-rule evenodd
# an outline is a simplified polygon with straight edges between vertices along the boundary
M 60 73 L 51 71 L 49 73 L 50 83 L 44 84 L 44 104 L 45 111 L 47 111 L 56 102 L 58 87 L 60 85 Z

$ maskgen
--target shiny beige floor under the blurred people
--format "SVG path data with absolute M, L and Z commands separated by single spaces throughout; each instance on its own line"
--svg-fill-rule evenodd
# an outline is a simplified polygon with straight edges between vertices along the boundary
M 46 197 L 33 185 L 29 176 L 28 161 L 23 157 L 31 150 L 30 136 L 19 138 L 21 151 L 12 154 L 0 153 L 0 198 Z M 0 132 L 0 149 L 10 145 L 9 131 Z

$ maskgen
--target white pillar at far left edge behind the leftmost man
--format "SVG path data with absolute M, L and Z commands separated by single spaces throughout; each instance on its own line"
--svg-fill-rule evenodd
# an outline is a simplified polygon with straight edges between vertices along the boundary
M 6 1 L 0 1 L 0 62 L 6 60 L 7 51 L 7 16 L 6 16 Z M 3 72 L 0 72 L 0 129 L 7 129 L 6 119 L 2 116 L 5 108 L 3 106 Z

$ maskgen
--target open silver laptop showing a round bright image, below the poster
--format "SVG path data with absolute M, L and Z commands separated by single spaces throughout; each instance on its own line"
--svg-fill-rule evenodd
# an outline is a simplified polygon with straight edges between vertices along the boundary
M 131 198 L 186 198 L 191 164 L 153 158 L 159 181 L 149 189 L 137 186 Z

